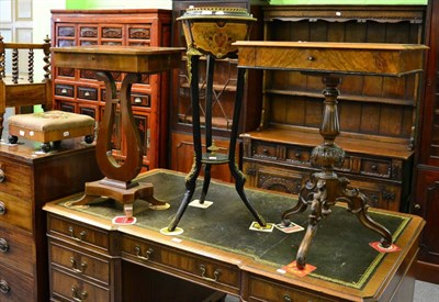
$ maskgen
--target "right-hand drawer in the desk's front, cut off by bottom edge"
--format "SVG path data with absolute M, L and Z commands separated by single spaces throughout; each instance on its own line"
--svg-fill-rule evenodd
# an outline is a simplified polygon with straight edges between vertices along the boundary
M 338 301 L 304 291 L 304 289 L 283 287 L 269 280 L 250 276 L 248 280 L 248 301 L 284 301 L 284 302 L 329 302 Z

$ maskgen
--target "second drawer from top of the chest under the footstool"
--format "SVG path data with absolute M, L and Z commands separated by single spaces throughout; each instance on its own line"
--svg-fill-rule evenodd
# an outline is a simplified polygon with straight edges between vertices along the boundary
M 0 191 L 0 223 L 2 222 L 33 232 L 31 202 Z

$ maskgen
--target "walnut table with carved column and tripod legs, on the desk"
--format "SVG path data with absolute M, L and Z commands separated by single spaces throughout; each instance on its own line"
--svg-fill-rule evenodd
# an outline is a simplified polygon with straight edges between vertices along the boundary
M 282 221 L 311 206 L 308 225 L 296 255 L 296 266 L 303 269 L 306 255 L 322 217 L 330 214 L 338 201 L 347 202 L 348 210 L 360 223 L 379 233 L 381 245 L 392 245 L 391 233 L 368 214 L 368 197 L 349 186 L 347 178 L 339 178 L 334 167 L 342 165 L 345 152 L 335 143 L 340 133 L 337 111 L 337 89 L 341 77 L 349 75 L 374 75 L 403 77 L 423 71 L 424 45 L 375 44 L 375 43 L 316 43 L 316 42 L 245 42 L 234 43 L 238 47 L 238 78 L 245 68 L 295 70 L 322 77 L 325 85 L 324 110 L 319 133 L 322 145 L 314 148 L 312 164 L 322 171 L 311 176 L 301 188 L 295 206 L 282 213 Z M 241 96 L 243 86 L 237 88 Z

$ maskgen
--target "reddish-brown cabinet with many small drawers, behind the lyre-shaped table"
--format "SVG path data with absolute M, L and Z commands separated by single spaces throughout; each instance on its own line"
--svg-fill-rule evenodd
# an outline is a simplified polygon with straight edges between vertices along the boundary
M 171 11 L 142 10 L 53 10 L 53 46 L 123 45 L 169 46 Z M 72 68 L 56 68 L 53 82 L 55 108 L 93 116 L 103 116 L 105 103 L 103 82 L 95 72 Z M 120 88 L 123 74 L 113 72 Z M 146 169 L 167 166 L 168 161 L 169 75 L 145 75 L 142 83 L 133 85 L 132 107 L 135 123 L 144 145 L 143 164 Z M 124 133 L 115 123 L 113 155 L 124 159 Z

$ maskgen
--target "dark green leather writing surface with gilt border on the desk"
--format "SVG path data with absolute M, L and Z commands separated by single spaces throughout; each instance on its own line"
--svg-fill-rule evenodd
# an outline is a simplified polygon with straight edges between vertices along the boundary
M 148 208 L 146 201 L 135 201 L 134 216 L 137 219 L 137 227 L 158 232 L 169 224 L 185 192 L 184 177 L 183 174 L 159 169 L 139 178 L 140 181 L 154 183 L 155 197 L 167 201 L 171 206 L 155 211 Z M 195 199 L 201 187 L 202 179 L 199 179 Z M 295 199 L 286 194 L 252 189 L 246 189 L 246 193 L 267 222 L 279 223 L 281 213 L 295 204 Z M 184 232 L 176 237 L 245 255 L 273 268 L 281 268 L 295 259 L 304 232 L 285 234 L 277 228 L 271 233 L 250 231 L 254 217 L 233 183 L 212 181 L 206 200 L 214 202 L 207 209 L 188 206 L 179 223 Z M 309 248 L 307 262 L 317 267 L 309 277 L 361 289 L 389 254 L 380 254 L 369 246 L 369 243 L 376 242 L 380 237 L 362 226 L 353 214 L 341 205 L 331 209 L 333 213 L 319 222 Z M 77 211 L 109 221 L 123 215 L 121 204 L 103 199 L 97 200 L 88 209 L 79 208 Z M 412 220 L 409 215 L 399 213 L 374 210 L 369 212 L 373 220 L 393 234 L 394 241 Z M 306 227 L 308 213 L 307 210 L 296 214 L 293 221 Z

